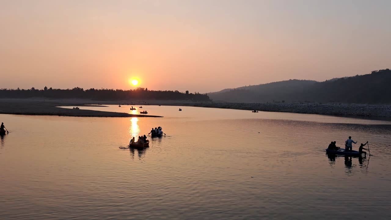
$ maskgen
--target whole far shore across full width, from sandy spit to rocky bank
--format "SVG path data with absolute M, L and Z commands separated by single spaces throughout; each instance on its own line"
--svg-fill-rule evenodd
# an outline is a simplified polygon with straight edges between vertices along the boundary
M 98 105 L 99 104 L 99 105 Z M 171 105 L 195 106 L 206 108 L 230 108 L 240 110 L 258 110 L 265 112 L 292 112 L 320 115 L 338 115 L 353 117 L 391 118 L 391 105 L 360 105 L 344 103 L 226 103 L 182 100 L 147 100 L 147 101 L 93 101 L 83 99 L 0 99 L 0 114 L 22 115 L 60 115 L 78 117 L 161 117 L 155 115 L 131 115 L 118 112 L 102 112 L 82 109 L 66 109 L 56 106 L 83 105 Z M 380 118 L 381 119 L 381 118 Z

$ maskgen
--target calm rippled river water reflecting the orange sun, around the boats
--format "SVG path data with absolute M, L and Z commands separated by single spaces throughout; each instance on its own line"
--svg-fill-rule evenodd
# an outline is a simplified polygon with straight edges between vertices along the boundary
M 391 218 L 391 122 L 181 108 L 143 106 L 163 118 L 0 115 L 10 132 L 0 219 Z M 149 148 L 118 148 L 157 126 L 167 135 Z M 371 157 L 326 155 L 349 135 L 368 140 Z

